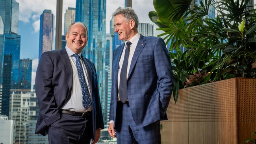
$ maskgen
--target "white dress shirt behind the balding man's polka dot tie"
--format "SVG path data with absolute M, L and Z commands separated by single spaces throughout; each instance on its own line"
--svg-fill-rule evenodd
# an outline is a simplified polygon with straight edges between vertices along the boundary
M 69 55 L 69 60 L 70 60 L 71 66 L 72 66 L 73 83 L 72 83 L 70 99 L 67 103 L 64 104 L 64 106 L 61 109 L 80 112 L 80 113 L 91 111 L 92 105 L 87 110 L 82 105 L 83 95 L 82 95 L 82 88 L 81 88 L 79 77 L 78 77 L 78 71 L 76 68 L 76 58 L 74 56 L 72 56 L 75 53 L 72 50 L 70 50 L 70 48 L 67 45 L 66 45 L 65 49 L 67 51 L 67 54 Z M 83 62 L 83 60 L 81 58 L 81 53 L 78 55 L 80 57 L 80 62 L 82 64 L 82 68 L 83 68 L 83 74 L 85 76 L 85 81 L 88 86 L 88 90 L 89 90 L 89 94 L 90 94 L 90 98 L 91 98 L 90 86 L 89 86 L 89 82 L 88 82 L 88 74 L 87 74 L 87 70 L 85 67 L 85 63 Z

